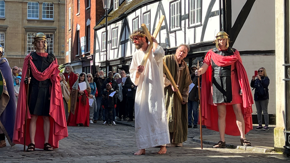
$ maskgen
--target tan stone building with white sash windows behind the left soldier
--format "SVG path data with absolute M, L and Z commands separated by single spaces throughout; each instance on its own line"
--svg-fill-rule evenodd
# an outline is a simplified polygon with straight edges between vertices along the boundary
M 11 67 L 23 67 L 38 32 L 51 37 L 50 52 L 64 64 L 65 0 L 0 0 L 0 43 Z

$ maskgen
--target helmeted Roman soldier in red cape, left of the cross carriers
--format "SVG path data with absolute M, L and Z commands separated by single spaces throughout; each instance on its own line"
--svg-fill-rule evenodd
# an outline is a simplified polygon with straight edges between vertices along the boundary
M 59 140 L 68 136 L 60 87 L 60 71 L 55 56 L 52 53 L 45 53 L 47 48 L 45 34 L 37 33 L 33 44 L 36 51 L 24 59 L 23 76 L 27 74 L 30 65 L 30 77 L 28 79 L 26 76 L 26 79 L 21 80 L 20 83 L 13 143 L 24 144 L 28 98 L 25 144 L 28 146 L 27 151 L 35 151 L 35 148 L 52 151 L 53 148 L 59 147 Z M 28 96 L 27 89 L 29 89 Z

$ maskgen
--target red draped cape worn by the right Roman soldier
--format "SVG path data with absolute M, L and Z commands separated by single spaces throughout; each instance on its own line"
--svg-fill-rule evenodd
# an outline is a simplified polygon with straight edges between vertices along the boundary
M 242 112 L 245 120 L 245 133 L 253 129 L 252 122 L 252 104 L 253 97 L 248 82 L 246 70 L 242 64 L 242 59 L 239 52 L 236 50 L 232 56 L 220 56 L 209 50 L 205 58 L 211 58 L 218 66 L 229 66 L 235 64 L 239 85 L 242 89 Z M 218 131 L 218 110 L 217 106 L 209 104 L 209 98 L 212 98 L 212 66 L 209 65 L 207 71 L 202 75 L 201 81 L 201 110 L 202 110 L 202 125 L 206 125 L 207 129 Z M 240 132 L 236 125 L 236 116 L 232 105 L 226 105 L 226 134 L 239 136 Z

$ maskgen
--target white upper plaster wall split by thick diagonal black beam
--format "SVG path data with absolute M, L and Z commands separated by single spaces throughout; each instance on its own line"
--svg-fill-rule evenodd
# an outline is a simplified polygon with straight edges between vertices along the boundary
M 245 0 L 232 0 L 232 25 L 244 6 Z M 275 1 L 256 0 L 233 45 L 244 50 L 275 49 Z M 231 36 L 230 36 L 231 38 Z

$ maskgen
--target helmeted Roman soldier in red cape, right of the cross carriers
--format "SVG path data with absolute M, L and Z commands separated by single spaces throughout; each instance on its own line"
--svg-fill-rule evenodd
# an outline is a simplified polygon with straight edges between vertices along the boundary
M 217 34 L 216 47 L 209 50 L 204 64 L 196 70 L 202 75 L 202 124 L 220 132 L 213 148 L 225 148 L 225 134 L 241 136 L 241 145 L 251 146 L 245 134 L 253 129 L 253 97 L 247 73 L 238 50 L 229 48 L 228 34 Z

